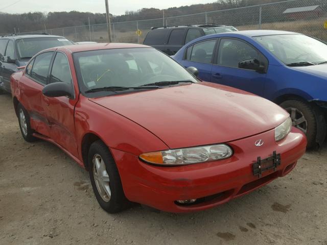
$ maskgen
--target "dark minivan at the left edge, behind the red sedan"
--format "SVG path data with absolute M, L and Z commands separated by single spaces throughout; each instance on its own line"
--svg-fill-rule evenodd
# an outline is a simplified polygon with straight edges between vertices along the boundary
M 26 63 L 46 48 L 71 45 L 73 42 L 61 36 L 41 34 L 10 34 L 0 36 L 0 93 L 10 91 L 10 76 L 17 67 Z

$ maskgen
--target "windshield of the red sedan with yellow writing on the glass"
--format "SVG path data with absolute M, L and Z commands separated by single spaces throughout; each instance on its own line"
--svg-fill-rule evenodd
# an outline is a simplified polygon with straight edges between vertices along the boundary
M 197 82 L 181 65 L 154 48 L 79 52 L 74 54 L 74 63 L 82 92 L 98 91 L 99 88 L 108 87 Z

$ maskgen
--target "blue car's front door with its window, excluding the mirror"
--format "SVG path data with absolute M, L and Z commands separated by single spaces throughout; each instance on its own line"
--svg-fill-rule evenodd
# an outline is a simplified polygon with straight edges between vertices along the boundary
M 237 38 L 221 38 L 217 59 L 212 67 L 212 82 L 239 88 L 263 96 L 266 74 L 239 68 L 239 62 L 247 59 L 268 60 L 248 42 Z

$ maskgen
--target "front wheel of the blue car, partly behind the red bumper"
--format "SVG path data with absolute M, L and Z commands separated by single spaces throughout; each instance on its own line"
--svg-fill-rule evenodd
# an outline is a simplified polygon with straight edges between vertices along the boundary
M 312 108 L 308 103 L 300 100 L 284 101 L 280 106 L 290 113 L 293 126 L 306 134 L 308 141 L 307 148 L 315 148 L 317 146 L 317 119 L 314 113 L 314 108 Z M 298 124 L 298 122 L 303 120 L 301 119 L 302 117 L 305 121 Z

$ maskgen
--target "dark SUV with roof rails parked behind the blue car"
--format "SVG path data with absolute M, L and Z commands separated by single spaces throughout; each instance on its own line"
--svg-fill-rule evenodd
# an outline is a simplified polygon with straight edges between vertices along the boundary
M 189 24 L 175 27 L 153 27 L 143 44 L 155 47 L 168 55 L 174 55 L 185 43 L 209 34 L 235 32 L 235 27 L 217 24 Z

